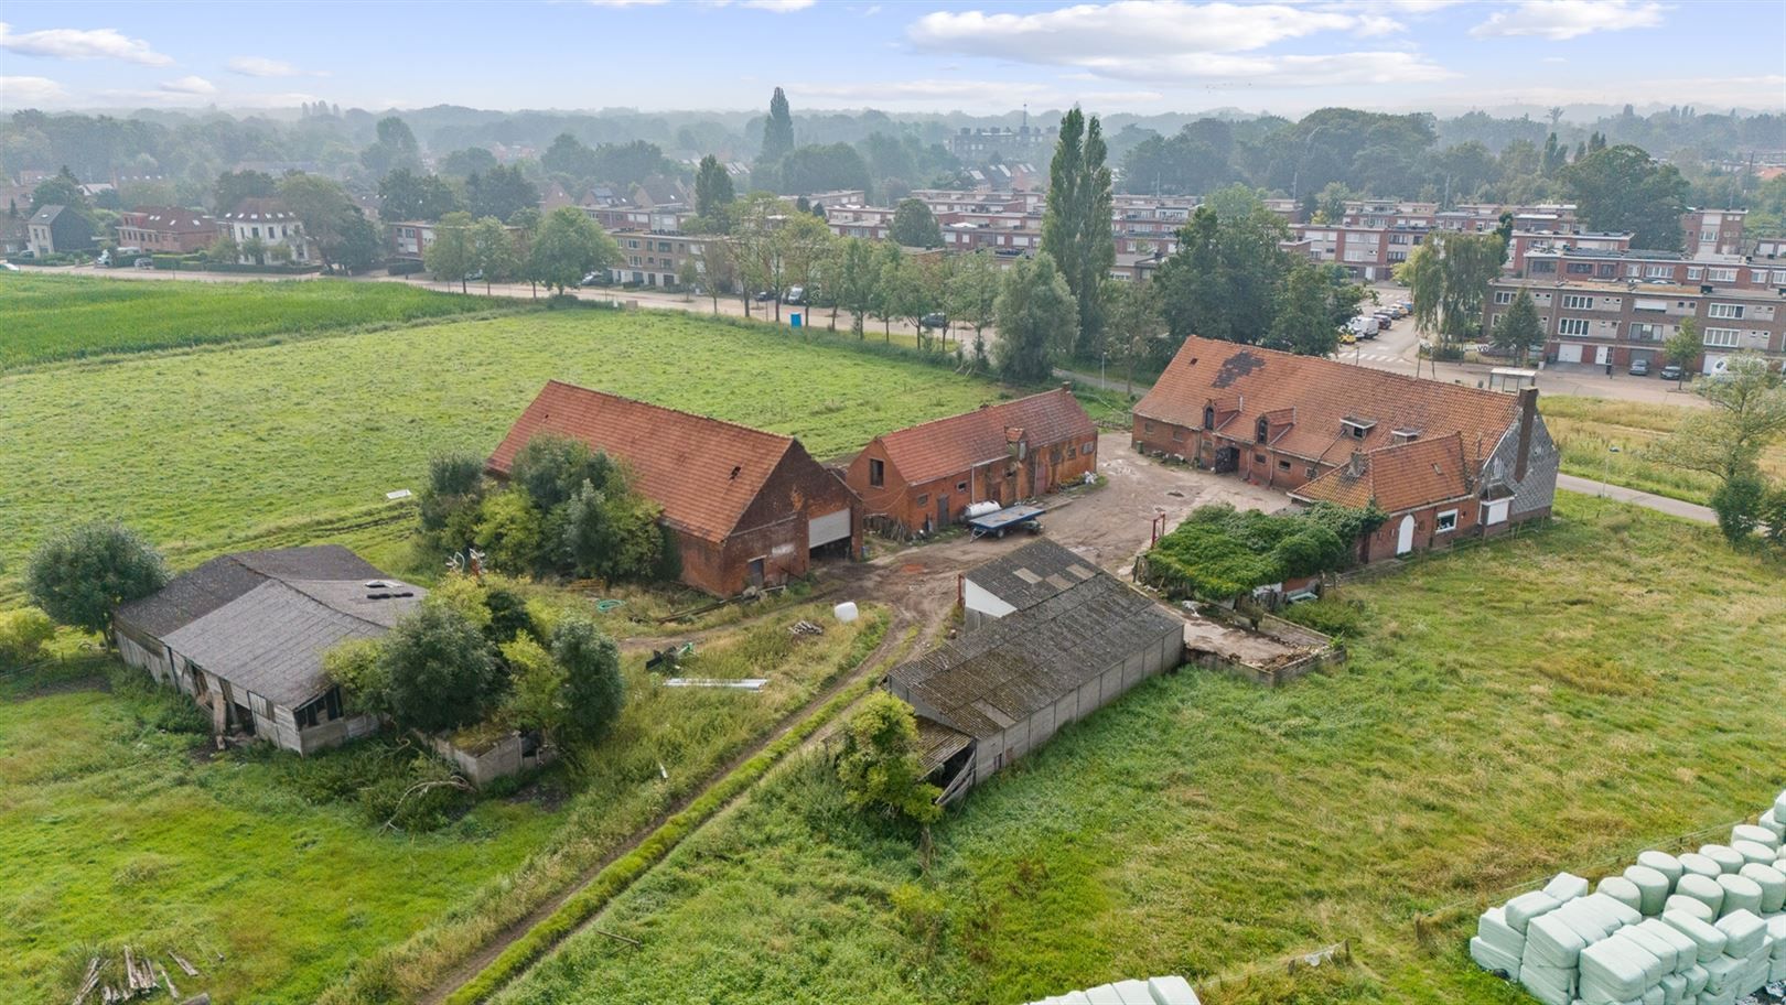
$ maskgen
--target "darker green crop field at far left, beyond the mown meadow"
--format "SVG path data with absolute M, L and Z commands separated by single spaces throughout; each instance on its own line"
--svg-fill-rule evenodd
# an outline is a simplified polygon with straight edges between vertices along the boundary
M 0 275 L 0 373 L 36 362 L 513 311 L 398 282 Z

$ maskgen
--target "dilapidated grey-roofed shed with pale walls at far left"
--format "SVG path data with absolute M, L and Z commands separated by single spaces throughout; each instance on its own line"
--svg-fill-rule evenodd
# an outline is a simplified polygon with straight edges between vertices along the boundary
M 241 552 L 125 603 L 118 653 L 239 730 L 309 753 L 379 728 L 352 716 L 323 675 L 323 653 L 377 639 L 427 591 L 393 580 L 339 544 Z

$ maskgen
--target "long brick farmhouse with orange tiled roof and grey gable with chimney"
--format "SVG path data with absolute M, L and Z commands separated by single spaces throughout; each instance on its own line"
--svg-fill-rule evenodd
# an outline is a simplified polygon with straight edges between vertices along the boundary
M 1134 407 L 1136 450 L 1365 507 L 1359 561 L 1550 514 L 1557 448 L 1538 389 L 1482 391 L 1191 337 Z

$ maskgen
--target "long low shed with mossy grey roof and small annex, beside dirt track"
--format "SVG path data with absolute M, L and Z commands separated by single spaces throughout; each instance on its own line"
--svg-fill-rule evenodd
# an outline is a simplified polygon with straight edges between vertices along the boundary
M 968 630 L 888 675 L 943 802 L 1184 657 L 1181 618 L 1052 541 L 970 571 L 961 600 Z

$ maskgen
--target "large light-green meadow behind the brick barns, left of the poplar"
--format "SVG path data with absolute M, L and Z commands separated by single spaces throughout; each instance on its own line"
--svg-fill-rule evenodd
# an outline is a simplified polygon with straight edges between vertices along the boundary
M 795 434 L 820 459 L 1000 393 L 768 328 L 593 309 L 43 368 L 0 377 L 0 575 L 96 514 L 180 561 L 343 541 L 398 562 L 413 516 L 384 493 L 420 489 L 434 453 L 493 450 L 548 378 Z

